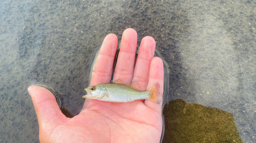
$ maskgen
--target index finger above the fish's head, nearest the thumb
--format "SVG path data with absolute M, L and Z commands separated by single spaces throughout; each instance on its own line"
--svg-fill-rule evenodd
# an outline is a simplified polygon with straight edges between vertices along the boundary
M 109 34 L 105 37 L 91 78 L 91 85 L 110 82 L 113 72 L 113 64 L 117 50 L 117 37 Z

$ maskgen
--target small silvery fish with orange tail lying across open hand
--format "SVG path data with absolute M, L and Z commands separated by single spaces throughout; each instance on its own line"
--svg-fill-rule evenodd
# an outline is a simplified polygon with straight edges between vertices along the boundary
M 118 80 L 117 80 L 118 81 Z M 120 81 L 120 80 L 119 80 Z M 160 104 L 160 84 L 156 82 L 147 91 L 138 91 L 122 83 L 101 83 L 86 89 L 88 99 L 97 99 L 108 102 L 130 102 L 139 99 L 147 99 Z

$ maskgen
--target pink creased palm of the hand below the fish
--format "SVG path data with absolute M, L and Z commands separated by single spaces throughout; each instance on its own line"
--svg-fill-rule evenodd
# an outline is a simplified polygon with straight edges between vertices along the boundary
M 83 110 L 72 119 L 64 119 L 52 127 L 52 132 L 45 131 L 47 137 L 42 137 L 41 141 L 65 142 L 71 139 L 72 142 L 159 142 L 162 124 L 161 115 L 158 116 L 157 111 L 143 103 L 106 103 L 92 103 L 99 105 Z

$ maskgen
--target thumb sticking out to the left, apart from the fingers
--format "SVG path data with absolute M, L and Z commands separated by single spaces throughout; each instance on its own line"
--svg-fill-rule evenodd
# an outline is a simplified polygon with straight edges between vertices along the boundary
M 56 98 L 49 90 L 33 85 L 28 88 L 28 92 L 32 98 L 40 128 L 45 128 L 46 124 L 60 124 L 67 120 L 59 109 Z

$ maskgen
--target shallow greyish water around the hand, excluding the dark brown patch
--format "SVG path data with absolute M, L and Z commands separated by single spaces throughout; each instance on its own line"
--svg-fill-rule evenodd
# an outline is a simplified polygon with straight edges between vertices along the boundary
M 256 142 L 256 3 L 253 1 L 1 1 L 0 142 L 38 142 L 29 85 L 61 95 L 79 113 L 104 37 L 125 28 L 156 40 L 164 103 L 183 99 L 231 113 Z M 166 82 L 165 81 L 165 82 Z M 167 94 L 166 94 L 167 93 Z M 26 132 L 24 132 L 26 130 Z

